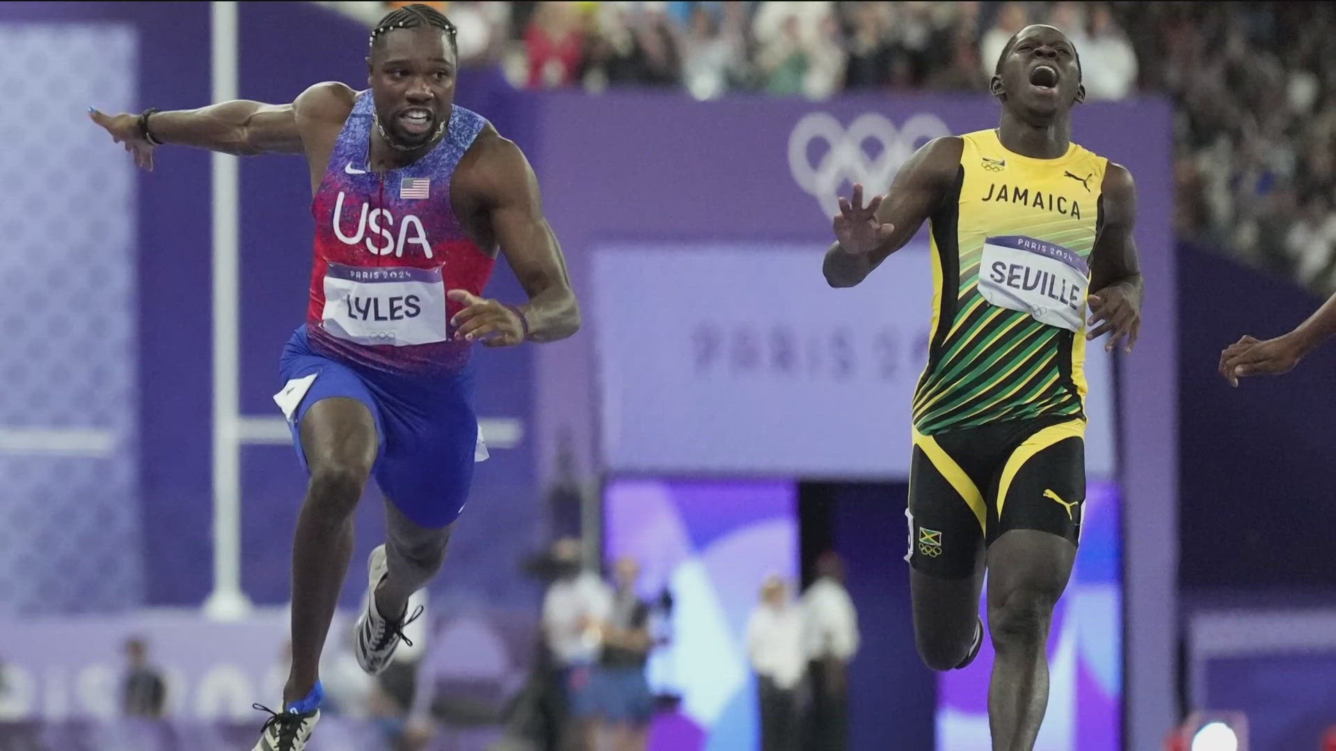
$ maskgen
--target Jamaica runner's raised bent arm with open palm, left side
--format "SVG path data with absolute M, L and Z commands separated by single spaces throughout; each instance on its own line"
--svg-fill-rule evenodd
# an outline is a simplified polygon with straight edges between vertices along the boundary
M 955 180 L 962 148 L 959 136 L 945 136 L 927 142 L 914 152 L 895 174 L 891 188 L 876 208 L 875 222 L 890 224 L 888 230 L 876 237 L 876 245 L 862 250 L 843 247 L 836 241 L 826 251 L 822 270 L 830 286 L 852 287 L 862 282 L 872 269 L 918 234 L 923 220 L 933 214 Z M 839 237 L 836 226 L 836 238 Z

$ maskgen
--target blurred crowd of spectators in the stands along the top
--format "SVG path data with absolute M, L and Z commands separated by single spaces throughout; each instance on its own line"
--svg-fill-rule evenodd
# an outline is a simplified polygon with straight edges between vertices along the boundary
M 1051 23 L 1075 41 L 1092 100 L 1154 94 L 1176 104 L 1180 238 L 1228 249 L 1316 291 L 1336 289 L 1336 5 L 440 5 L 460 27 L 461 57 L 501 65 L 516 86 L 681 87 L 697 99 L 985 91 L 1007 37 L 1027 23 Z

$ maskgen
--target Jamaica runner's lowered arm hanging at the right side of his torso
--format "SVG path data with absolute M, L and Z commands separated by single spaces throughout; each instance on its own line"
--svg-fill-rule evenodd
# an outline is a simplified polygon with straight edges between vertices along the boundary
M 1090 253 L 1090 326 L 1088 339 L 1113 331 L 1105 351 L 1122 341 L 1132 351 L 1141 333 L 1142 279 L 1137 261 L 1137 242 L 1132 229 L 1137 223 L 1137 186 L 1132 172 L 1109 163 L 1100 192 L 1101 226 Z

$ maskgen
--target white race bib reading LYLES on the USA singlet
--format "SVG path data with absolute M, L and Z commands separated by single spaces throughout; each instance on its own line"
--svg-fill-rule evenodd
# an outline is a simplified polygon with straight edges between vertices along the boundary
M 449 338 L 441 267 L 359 267 L 325 271 L 325 330 L 359 345 L 411 346 Z

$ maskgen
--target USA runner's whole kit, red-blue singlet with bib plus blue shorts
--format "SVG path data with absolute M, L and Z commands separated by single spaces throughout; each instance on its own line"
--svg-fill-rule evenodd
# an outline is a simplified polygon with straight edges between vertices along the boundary
M 464 510 L 473 462 L 488 452 L 473 409 L 470 342 L 452 341 L 452 289 L 482 294 L 493 258 L 464 233 L 450 178 L 486 120 L 454 107 L 417 162 L 373 172 L 371 96 L 358 95 L 311 203 L 315 263 L 306 323 L 279 358 L 293 448 L 310 470 L 302 421 L 330 398 L 362 402 L 379 442 L 373 474 L 421 527 Z

